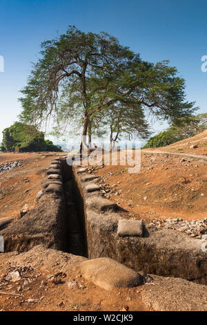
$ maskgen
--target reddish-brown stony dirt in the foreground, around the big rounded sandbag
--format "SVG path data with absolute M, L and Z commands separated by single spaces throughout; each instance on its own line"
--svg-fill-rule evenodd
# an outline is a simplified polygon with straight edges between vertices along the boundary
M 0 310 L 207 310 L 206 286 L 144 275 L 144 285 L 106 291 L 81 277 L 84 261 L 42 245 L 0 254 Z

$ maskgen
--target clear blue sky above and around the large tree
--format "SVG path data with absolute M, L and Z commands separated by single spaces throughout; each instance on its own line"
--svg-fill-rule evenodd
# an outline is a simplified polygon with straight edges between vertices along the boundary
M 26 85 L 41 41 L 66 31 L 69 25 L 88 32 L 101 30 L 151 62 L 169 59 L 186 79 L 189 101 L 207 111 L 207 73 L 201 57 L 207 55 L 207 3 L 195 0 L 1 0 L 0 72 L 1 131 L 21 111 L 19 90 Z M 161 126 L 158 125 L 158 131 Z

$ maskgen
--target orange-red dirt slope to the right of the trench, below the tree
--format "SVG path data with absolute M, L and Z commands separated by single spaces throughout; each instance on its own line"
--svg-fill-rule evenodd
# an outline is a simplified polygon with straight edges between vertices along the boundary
M 175 143 L 174 147 L 185 145 L 182 152 L 202 154 L 207 149 L 204 145 L 206 136 L 207 131 L 204 131 Z M 203 147 L 198 145 L 197 149 L 189 149 L 195 139 Z M 157 148 L 157 151 L 171 153 L 169 147 Z M 147 154 L 141 150 L 141 170 L 138 173 L 130 174 L 127 166 L 120 165 L 106 165 L 93 171 L 102 177 L 101 185 L 106 197 L 126 210 L 125 216 L 144 221 L 159 220 L 163 216 L 188 221 L 206 218 L 207 162 L 154 151 L 155 154 Z

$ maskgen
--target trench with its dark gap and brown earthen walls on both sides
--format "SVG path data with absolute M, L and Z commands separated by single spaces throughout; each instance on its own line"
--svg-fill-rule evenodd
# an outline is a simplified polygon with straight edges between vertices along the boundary
M 26 252 L 42 244 L 89 259 L 110 257 L 138 272 L 207 284 L 207 259 L 200 247 L 191 243 L 188 247 L 189 239 L 183 234 L 177 239 L 168 230 L 152 231 L 143 238 L 118 238 L 119 213 L 88 209 L 81 176 L 66 159 L 59 160 L 63 194 L 43 195 L 31 214 L 0 229 L 5 252 Z

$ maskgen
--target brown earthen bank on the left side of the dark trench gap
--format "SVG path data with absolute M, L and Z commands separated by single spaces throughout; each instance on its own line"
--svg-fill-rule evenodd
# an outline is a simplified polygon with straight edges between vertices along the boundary
M 30 212 L 1 230 L 6 252 L 23 252 L 40 243 L 46 248 L 64 250 L 66 225 L 60 224 L 65 216 L 61 200 L 54 194 L 42 196 Z

